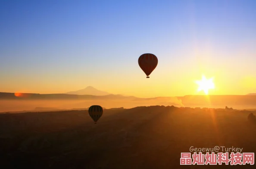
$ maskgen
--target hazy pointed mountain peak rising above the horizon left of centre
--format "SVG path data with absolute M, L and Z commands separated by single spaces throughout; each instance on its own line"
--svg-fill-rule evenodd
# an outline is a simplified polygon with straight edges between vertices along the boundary
M 70 91 L 65 94 L 77 94 L 77 95 L 94 95 L 94 96 L 106 96 L 110 93 L 106 91 L 100 91 L 92 86 L 88 86 L 87 88 L 78 90 L 78 91 Z

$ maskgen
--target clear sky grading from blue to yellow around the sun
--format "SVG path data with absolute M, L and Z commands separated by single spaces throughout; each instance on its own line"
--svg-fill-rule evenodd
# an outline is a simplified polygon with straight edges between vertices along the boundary
M 0 0 L 0 92 L 256 93 L 256 0 Z M 141 54 L 158 58 L 146 78 Z

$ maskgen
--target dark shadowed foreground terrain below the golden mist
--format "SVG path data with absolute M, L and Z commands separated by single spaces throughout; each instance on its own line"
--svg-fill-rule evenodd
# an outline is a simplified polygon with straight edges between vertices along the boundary
M 256 152 L 253 111 L 173 106 L 0 115 L 2 169 L 255 169 L 255 165 L 181 166 L 191 146 Z M 255 112 L 253 112 L 255 114 Z

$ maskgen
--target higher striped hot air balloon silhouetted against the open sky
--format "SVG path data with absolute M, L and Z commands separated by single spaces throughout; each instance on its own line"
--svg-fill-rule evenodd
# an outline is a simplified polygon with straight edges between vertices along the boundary
M 156 55 L 146 53 L 146 54 L 142 54 L 139 57 L 138 63 L 139 63 L 140 68 L 147 75 L 147 78 L 149 78 L 149 75 L 153 72 L 153 70 L 157 66 L 158 59 L 157 59 Z

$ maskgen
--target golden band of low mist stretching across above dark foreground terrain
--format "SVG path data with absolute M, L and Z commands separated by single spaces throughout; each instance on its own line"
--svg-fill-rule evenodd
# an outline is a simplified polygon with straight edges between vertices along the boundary
M 44 98 L 44 97 L 42 97 Z M 100 105 L 103 108 L 130 109 L 137 106 L 176 106 L 176 107 L 200 107 L 224 109 L 225 106 L 233 109 L 256 109 L 256 96 L 240 95 L 211 95 L 200 96 L 191 95 L 184 97 L 155 97 L 155 98 L 136 98 L 136 97 L 84 97 L 85 99 L 2 99 L 0 100 L 0 112 L 32 112 L 32 111 L 52 111 L 63 109 L 87 109 L 92 105 Z

